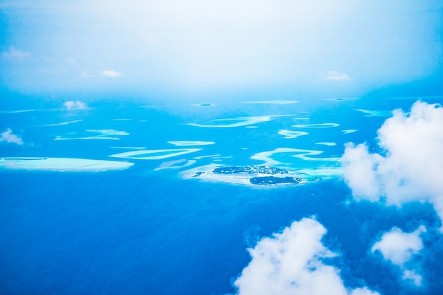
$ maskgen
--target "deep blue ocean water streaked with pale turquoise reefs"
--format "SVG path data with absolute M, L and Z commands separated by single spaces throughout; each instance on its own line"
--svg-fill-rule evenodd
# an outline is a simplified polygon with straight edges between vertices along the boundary
M 55 168 L 45 160 L 1 164 L 0 294 L 234 294 L 251 260 L 246 249 L 306 216 L 328 229 L 323 243 L 340 253 L 333 265 L 347 287 L 439 294 L 442 238 L 432 230 L 440 222 L 432 206 L 355 202 L 338 163 L 346 142 L 378 151 L 376 130 L 393 109 L 408 111 L 418 99 L 98 100 L 84 109 L 25 112 L 8 105 L 0 131 L 10 128 L 23 144 L 1 142 L 0 158 L 62 159 Z M 263 153 L 272 166 L 321 180 L 270 187 L 187 173 L 263 165 Z M 113 162 L 103 168 L 79 159 Z M 115 168 L 114 161 L 133 165 Z M 374 258 L 370 245 L 393 226 L 420 224 L 430 229 L 430 255 L 422 255 L 425 284 L 417 288 Z

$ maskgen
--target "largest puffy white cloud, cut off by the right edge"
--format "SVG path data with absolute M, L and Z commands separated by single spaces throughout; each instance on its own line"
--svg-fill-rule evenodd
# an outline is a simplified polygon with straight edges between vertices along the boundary
M 367 144 L 347 144 L 341 158 L 355 199 L 401 207 L 430 202 L 443 219 L 443 108 L 416 102 L 410 113 L 395 110 L 378 130 L 381 154 Z

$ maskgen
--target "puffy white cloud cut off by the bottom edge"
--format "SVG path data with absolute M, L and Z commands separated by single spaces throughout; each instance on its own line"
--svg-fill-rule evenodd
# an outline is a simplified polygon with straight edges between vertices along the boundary
M 323 263 L 336 256 L 321 243 L 325 233 L 318 221 L 305 218 L 262 238 L 248 249 L 252 260 L 234 282 L 237 294 L 378 294 L 367 288 L 347 290 L 340 270 Z

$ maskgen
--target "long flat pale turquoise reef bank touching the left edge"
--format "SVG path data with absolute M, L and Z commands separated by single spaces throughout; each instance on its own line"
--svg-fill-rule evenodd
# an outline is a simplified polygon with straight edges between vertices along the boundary
M 134 163 L 91 160 L 86 158 L 0 158 L 0 168 L 11 170 L 99 172 L 125 170 L 133 165 Z

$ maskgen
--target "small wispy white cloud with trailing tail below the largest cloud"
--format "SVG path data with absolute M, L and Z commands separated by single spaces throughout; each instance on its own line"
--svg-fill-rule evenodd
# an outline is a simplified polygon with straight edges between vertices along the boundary
M 422 250 L 423 243 L 421 233 L 425 233 L 425 226 L 419 226 L 412 233 L 404 233 L 401 229 L 393 228 L 381 236 L 380 241 L 372 246 L 372 253 L 379 251 L 384 260 L 398 265 L 403 270 L 403 280 L 410 279 L 415 286 L 421 286 L 422 277 L 415 270 L 409 270 L 405 264 L 411 260 L 413 255 Z

